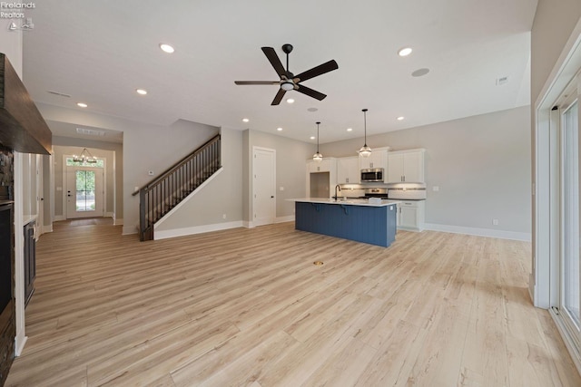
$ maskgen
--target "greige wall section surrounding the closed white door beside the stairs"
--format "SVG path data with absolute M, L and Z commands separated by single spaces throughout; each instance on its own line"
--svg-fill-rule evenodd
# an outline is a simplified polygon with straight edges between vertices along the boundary
M 248 213 L 245 216 L 249 221 L 252 219 L 252 147 L 261 147 L 276 150 L 276 218 L 293 217 L 294 203 L 287 199 L 305 197 L 307 160 L 312 158 L 313 153 L 315 153 L 315 145 L 252 130 L 248 131 L 248 144 L 245 145 L 248 147 L 246 160 L 249 163 L 250 171 L 248 176 Z

